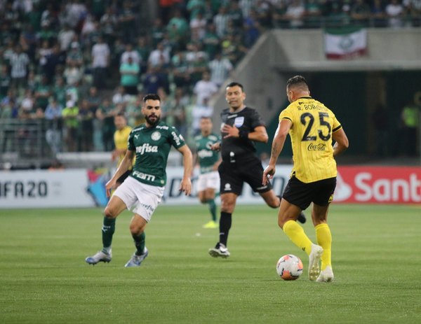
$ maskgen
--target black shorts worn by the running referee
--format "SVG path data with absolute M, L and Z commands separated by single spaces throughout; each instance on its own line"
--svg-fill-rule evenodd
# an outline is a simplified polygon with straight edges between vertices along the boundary
M 258 157 L 236 163 L 223 162 L 218 167 L 220 174 L 220 194 L 232 192 L 241 195 L 243 183 L 250 185 L 254 192 L 267 192 L 272 185 L 262 185 L 263 167 Z

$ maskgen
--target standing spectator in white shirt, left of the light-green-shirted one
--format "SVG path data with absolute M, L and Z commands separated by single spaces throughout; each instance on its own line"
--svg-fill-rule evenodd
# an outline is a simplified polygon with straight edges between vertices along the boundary
M 93 68 L 93 85 L 98 89 L 105 87 L 105 80 L 108 74 L 108 66 L 110 59 L 109 46 L 105 43 L 102 36 L 98 37 L 98 42 L 92 47 L 92 68 Z

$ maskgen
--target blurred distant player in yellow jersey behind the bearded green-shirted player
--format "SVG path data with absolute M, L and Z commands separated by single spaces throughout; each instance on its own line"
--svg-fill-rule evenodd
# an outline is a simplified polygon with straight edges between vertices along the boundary
M 123 113 L 117 113 L 114 116 L 114 125 L 116 131 L 114 132 L 114 150 L 112 151 L 112 160 L 117 160 L 116 167 L 119 167 L 124 155 L 127 151 L 128 135 L 132 128 L 127 125 L 126 116 Z M 128 169 L 120 178 L 117 179 L 117 187 L 130 175 L 132 168 Z

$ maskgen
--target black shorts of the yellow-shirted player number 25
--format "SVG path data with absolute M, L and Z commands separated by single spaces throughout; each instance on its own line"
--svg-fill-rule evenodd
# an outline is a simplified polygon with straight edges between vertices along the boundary
M 307 209 L 312 202 L 319 206 L 327 206 L 332 202 L 335 188 L 336 177 L 303 183 L 293 176 L 283 190 L 282 198 L 302 210 Z

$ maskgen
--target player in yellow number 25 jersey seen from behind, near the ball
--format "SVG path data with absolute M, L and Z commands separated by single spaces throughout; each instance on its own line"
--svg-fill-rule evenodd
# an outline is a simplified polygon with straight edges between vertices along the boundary
M 310 97 L 307 81 L 294 76 L 286 83 L 290 105 L 281 112 L 272 142 L 269 165 L 263 173 L 265 184 L 275 174 L 275 164 L 287 134 L 293 147 L 293 171 L 283 192 L 278 224 L 293 243 L 309 256 L 309 279 L 333 281 L 332 236 L 327 223 L 329 204 L 336 187 L 335 156 L 348 148 L 348 139 L 335 114 Z M 332 140 L 335 145 L 332 146 Z M 313 203 L 312 220 L 317 244 L 313 244 L 296 220 Z M 321 270 L 319 261 L 321 260 Z

